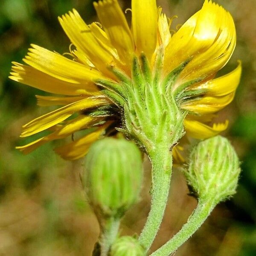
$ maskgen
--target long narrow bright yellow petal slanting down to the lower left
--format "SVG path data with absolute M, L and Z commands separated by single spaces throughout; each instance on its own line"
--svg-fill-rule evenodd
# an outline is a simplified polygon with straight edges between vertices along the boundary
M 44 131 L 52 127 L 53 125 L 56 125 L 66 120 L 75 112 L 106 104 L 109 104 L 109 102 L 105 97 L 90 97 L 80 100 L 79 102 L 71 103 L 67 106 L 40 116 L 30 121 L 26 125 L 23 125 L 23 132 L 20 137 L 27 137 L 40 131 Z

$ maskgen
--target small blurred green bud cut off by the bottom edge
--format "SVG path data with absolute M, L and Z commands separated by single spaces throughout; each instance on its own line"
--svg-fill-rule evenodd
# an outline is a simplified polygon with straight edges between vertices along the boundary
M 121 236 L 111 246 L 111 256 L 145 256 L 145 250 L 132 236 Z

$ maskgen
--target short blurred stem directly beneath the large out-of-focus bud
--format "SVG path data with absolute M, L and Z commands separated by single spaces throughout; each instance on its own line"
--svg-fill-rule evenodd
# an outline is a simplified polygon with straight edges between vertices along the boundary
M 110 217 L 102 227 L 102 234 L 99 239 L 100 243 L 100 256 L 108 256 L 111 245 L 116 239 L 119 230 L 120 219 Z

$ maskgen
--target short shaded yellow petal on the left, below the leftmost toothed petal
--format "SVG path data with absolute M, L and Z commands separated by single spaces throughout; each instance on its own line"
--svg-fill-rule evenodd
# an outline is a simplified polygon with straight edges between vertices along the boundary
M 78 102 L 84 99 L 84 96 L 78 97 L 55 97 L 55 96 L 41 96 L 36 95 L 38 106 L 52 106 L 52 105 L 68 105 L 73 102 Z

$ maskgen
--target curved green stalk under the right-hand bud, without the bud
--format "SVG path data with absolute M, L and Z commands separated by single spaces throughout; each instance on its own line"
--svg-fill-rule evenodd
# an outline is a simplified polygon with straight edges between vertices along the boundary
M 186 224 L 166 244 L 152 253 L 150 256 L 169 256 L 175 253 L 178 247 L 186 242 L 196 230 L 204 223 L 215 207 L 215 200 L 200 200 L 194 212 L 190 215 Z

